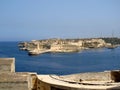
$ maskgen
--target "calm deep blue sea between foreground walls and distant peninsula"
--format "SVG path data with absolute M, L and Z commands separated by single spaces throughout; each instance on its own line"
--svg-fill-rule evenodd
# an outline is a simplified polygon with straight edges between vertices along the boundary
M 63 75 L 120 69 L 120 47 L 28 56 L 17 45 L 18 42 L 0 42 L 0 57 L 15 57 L 17 72 Z

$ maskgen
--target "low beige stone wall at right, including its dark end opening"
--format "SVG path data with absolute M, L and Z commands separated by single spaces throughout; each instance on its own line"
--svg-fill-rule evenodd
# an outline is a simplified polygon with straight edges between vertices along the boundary
M 63 80 L 84 82 L 84 81 L 105 81 L 105 82 L 120 82 L 120 71 L 105 71 L 105 72 L 92 72 L 92 73 L 80 73 L 73 75 L 61 76 Z

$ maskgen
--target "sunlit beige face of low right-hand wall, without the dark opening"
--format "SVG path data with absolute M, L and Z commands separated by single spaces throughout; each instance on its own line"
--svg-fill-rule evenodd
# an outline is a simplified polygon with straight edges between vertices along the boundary
M 93 73 L 80 73 L 73 75 L 61 76 L 64 80 L 71 81 L 112 81 L 111 72 L 93 72 Z

